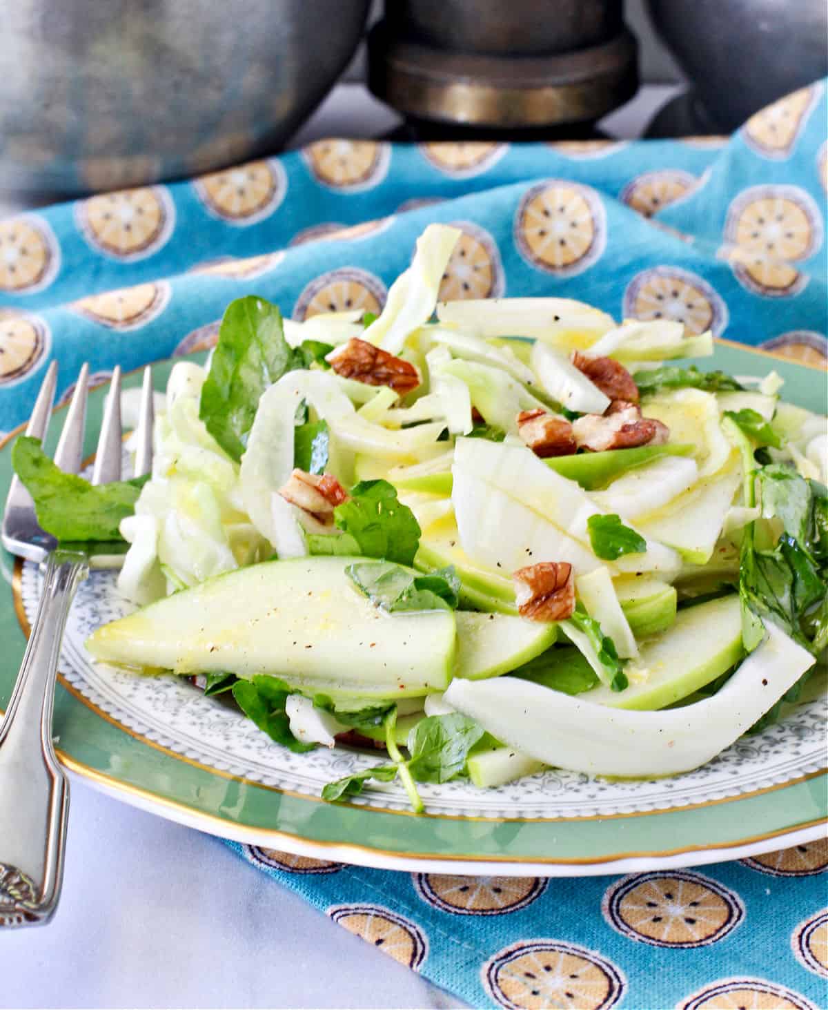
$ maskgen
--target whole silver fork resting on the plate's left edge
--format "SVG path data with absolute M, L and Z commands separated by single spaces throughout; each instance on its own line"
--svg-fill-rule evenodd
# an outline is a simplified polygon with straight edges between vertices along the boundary
M 45 438 L 58 366 L 46 372 L 26 434 Z M 55 463 L 69 474 L 81 469 L 86 424 L 89 367 L 84 365 L 55 452 Z M 121 476 L 121 376 L 112 374 L 93 484 Z M 148 473 L 152 462 L 152 378 L 147 368 L 138 424 L 135 476 Z M 61 547 L 37 524 L 31 496 L 14 477 L 3 515 L 2 541 L 7 550 L 36 562 L 43 589 L 20 673 L 0 722 L 0 926 L 47 922 L 61 894 L 64 870 L 69 783 L 58 764 L 51 740 L 55 679 L 61 641 L 75 590 L 90 567 L 112 567 L 111 550 L 96 553 L 96 544 Z M 98 545 L 102 550 L 106 548 Z

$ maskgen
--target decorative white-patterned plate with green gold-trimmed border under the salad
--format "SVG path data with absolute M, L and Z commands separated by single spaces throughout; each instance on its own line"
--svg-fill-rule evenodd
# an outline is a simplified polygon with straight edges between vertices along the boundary
M 156 366 L 159 388 L 172 364 Z M 704 365 L 736 375 L 775 368 L 789 400 L 824 409 L 821 370 L 771 363 L 726 341 Z M 90 451 L 102 403 L 102 391 L 94 392 Z M 0 501 L 11 478 L 10 440 L 0 445 Z M 0 640 L 10 653 L 0 668 L 5 706 L 40 576 L 36 566 L 8 554 L 2 565 L 11 589 L 0 597 Z M 93 573 L 78 592 L 56 699 L 59 756 L 106 792 L 214 834 L 389 869 L 579 876 L 754 855 L 824 833 L 825 696 L 688 775 L 612 782 L 547 771 L 492 790 L 462 782 L 423 786 L 426 813 L 416 816 L 394 784 L 346 804 L 321 801 L 326 782 L 368 767 L 376 755 L 344 747 L 294 754 L 182 679 L 94 666 L 85 638 L 128 609 L 113 573 Z

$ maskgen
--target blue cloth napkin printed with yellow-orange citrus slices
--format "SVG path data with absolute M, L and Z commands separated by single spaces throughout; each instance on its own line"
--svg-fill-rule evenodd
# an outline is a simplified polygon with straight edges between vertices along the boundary
M 227 302 L 378 311 L 426 224 L 462 238 L 441 298 L 556 295 L 828 362 L 824 83 L 729 139 L 320 140 L 0 222 L 0 436 L 46 363 L 67 395 L 209 346 Z M 704 871 L 551 880 L 366 870 L 234 843 L 474 1005 L 828 1003 L 828 844 Z

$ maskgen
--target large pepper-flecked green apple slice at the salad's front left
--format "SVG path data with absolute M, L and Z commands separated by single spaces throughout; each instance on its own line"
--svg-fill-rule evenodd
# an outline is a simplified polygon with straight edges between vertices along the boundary
M 228 572 L 104 624 L 86 647 L 104 663 L 269 674 L 337 696 L 441 691 L 454 665 L 453 613 L 378 609 L 345 572 L 363 560 L 297 558 Z

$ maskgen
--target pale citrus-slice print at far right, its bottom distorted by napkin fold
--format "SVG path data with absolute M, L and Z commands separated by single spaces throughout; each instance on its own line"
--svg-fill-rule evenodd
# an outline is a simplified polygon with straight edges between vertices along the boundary
M 743 287 L 770 297 L 793 295 L 808 280 L 793 264 L 822 245 L 822 216 L 797 186 L 752 186 L 730 204 L 724 238 L 720 255 Z

